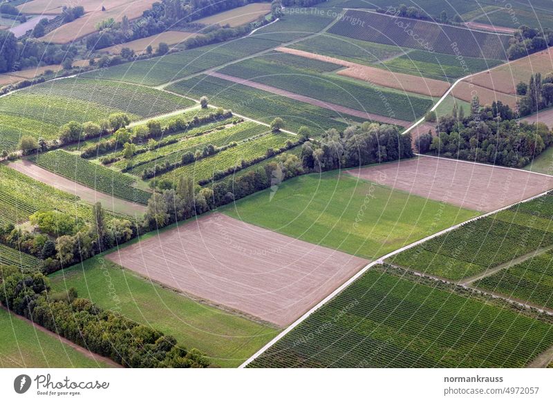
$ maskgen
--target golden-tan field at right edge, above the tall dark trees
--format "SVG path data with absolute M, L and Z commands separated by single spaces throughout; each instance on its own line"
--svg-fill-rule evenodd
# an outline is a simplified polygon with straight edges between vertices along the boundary
M 509 95 L 516 94 L 516 84 L 528 83 L 532 74 L 542 76 L 553 71 L 553 48 L 511 61 L 471 78 L 471 82 Z

